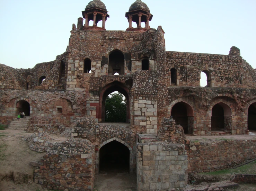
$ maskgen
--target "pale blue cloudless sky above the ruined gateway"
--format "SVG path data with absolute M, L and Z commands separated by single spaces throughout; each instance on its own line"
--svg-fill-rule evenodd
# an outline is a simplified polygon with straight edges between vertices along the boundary
M 126 30 L 125 12 L 135 0 L 103 0 L 107 30 Z M 232 46 L 256 68 L 255 0 L 143 0 L 151 28 L 162 26 L 166 50 L 228 54 Z M 33 68 L 65 52 L 72 23 L 89 0 L 0 0 L 0 63 Z

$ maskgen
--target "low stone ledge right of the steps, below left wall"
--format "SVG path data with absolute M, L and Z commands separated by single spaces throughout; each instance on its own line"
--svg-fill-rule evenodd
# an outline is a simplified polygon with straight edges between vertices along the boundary
M 63 125 L 57 124 L 30 124 L 26 132 L 47 132 L 49 134 L 61 134 L 65 130 Z

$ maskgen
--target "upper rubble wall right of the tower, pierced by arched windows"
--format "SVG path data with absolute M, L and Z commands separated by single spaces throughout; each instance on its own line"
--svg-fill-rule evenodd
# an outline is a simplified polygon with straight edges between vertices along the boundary
M 207 70 L 211 87 L 256 88 L 256 72 L 241 56 L 173 51 L 166 54 L 166 70 L 177 70 L 178 86 L 200 86 L 200 74 Z

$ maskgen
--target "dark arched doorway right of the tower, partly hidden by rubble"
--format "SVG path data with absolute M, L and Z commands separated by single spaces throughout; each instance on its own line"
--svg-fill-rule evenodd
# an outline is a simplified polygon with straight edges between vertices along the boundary
M 185 103 L 176 103 L 171 109 L 171 116 L 177 125 L 181 125 L 184 133 L 193 134 L 194 131 L 194 112 L 192 107 Z

